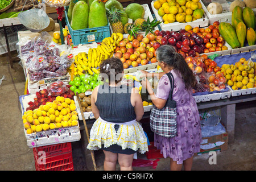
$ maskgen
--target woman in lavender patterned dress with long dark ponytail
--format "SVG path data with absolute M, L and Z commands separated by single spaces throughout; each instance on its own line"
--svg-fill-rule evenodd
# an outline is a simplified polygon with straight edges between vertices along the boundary
M 174 92 L 172 99 L 176 101 L 177 110 L 177 134 L 173 138 L 155 135 L 155 146 L 160 149 L 164 158 L 171 158 L 171 170 L 191 170 L 193 154 L 200 151 L 201 127 L 199 111 L 192 97 L 192 87 L 196 83 L 191 69 L 188 67 L 183 56 L 175 52 L 171 46 L 160 46 L 156 51 L 158 65 L 162 73 L 146 73 L 146 77 L 157 76 L 160 78 L 156 94 L 145 78 L 142 86 L 147 89 L 153 104 L 162 109 L 170 93 L 170 80 L 167 75 L 171 72 L 174 76 Z

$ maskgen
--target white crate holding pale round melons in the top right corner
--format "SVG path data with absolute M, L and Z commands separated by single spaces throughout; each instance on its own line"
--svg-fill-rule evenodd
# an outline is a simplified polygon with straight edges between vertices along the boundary
M 213 24 L 213 22 L 218 21 L 218 22 L 231 22 L 232 20 L 232 12 L 229 11 L 229 7 L 233 1 L 226 1 L 226 0 L 217 0 L 214 2 L 218 2 L 222 6 L 222 13 L 221 14 L 210 14 L 209 11 L 207 10 L 207 7 L 210 2 L 205 2 L 203 3 L 201 0 L 201 5 L 203 10 L 205 11 L 205 14 L 207 15 L 209 19 L 209 24 Z M 254 14 L 256 13 L 256 9 L 252 9 Z

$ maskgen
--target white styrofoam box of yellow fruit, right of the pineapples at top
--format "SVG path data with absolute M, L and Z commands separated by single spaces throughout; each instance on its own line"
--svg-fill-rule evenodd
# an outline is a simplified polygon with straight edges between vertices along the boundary
M 163 18 L 161 16 L 159 16 L 158 14 L 158 10 L 155 9 L 154 7 L 154 2 L 151 2 L 151 7 L 152 10 L 155 14 L 155 17 L 157 20 L 161 20 L 163 21 Z M 193 22 L 187 22 L 187 23 L 179 23 L 179 22 L 174 22 L 174 23 L 168 23 L 168 24 L 164 24 L 163 22 L 160 23 L 160 27 L 162 30 L 169 30 L 169 31 L 180 31 L 181 29 L 184 29 L 186 25 L 192 25 L 193 27 L 207 27 L 209 25 L 209 19 L 207 18 L 207 15 L 204 14 L 202 18 L 197 19 Z

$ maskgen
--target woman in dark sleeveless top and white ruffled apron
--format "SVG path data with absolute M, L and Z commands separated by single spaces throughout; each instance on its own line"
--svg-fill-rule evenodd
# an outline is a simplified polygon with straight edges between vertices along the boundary
M 94 88 L 91 102 L 96 118 L 90 130 L 89 150 L 104 151 L 104 170 L 132 170 L 134 153 L 148 151 L 147 138 L 139 125 L 144 110 L 142 98 L 133 87 L 121 84 L 123 65 L 111 57 L 100 65 L 104 85 Z

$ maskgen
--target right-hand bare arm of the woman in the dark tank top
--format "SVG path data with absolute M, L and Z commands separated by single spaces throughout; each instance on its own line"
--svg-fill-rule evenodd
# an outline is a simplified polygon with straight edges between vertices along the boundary
M 144 114 L 144 108 L 142 104 L 142 98 L 139 95 L 137 89 L 131 89 L 131 105 L 134 106 L 134 111 L 136 114 L 136 121 L 140 121 Z

